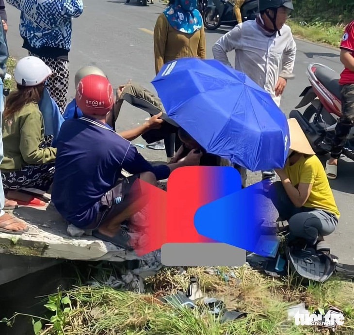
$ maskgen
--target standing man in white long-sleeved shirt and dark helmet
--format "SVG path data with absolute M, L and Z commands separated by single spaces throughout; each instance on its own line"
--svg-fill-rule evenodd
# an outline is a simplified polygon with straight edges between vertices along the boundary
M 256 20 L 238 24 L 212 47 L 214 58 L 229 66 L 227 53 L 235 50 L 235 69 L 269 92 L 278 107 L 287 80 L 294 77 L 296 44 L 285 24 L 291 10 L 291 0 L 259 0 Z M 275 172 L 262 171 L 262 178 L 274 181 Z

